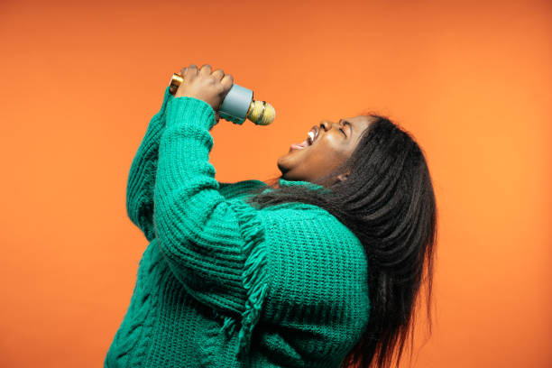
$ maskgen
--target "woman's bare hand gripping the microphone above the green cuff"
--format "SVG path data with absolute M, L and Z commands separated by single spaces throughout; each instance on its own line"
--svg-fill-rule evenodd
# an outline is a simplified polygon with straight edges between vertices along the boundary
M 218 110 L 226 94 L 234 84 L 234 78 L 222 69 L 211 72 L 211 66 L 205 64 L 198 70 L 196 64 L 180 70 L 184 81 L 180 84 L 174 97 L 194 97 L 205 101 L 215 111 L 218 123 Z

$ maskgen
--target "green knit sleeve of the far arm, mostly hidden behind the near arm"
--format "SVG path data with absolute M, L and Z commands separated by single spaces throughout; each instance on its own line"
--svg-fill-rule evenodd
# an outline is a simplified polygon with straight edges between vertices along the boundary
M 148 241 L 153 231 L 153 189 L 161 133 L 165 128 L 165 109 L 171 98 L 170 87 L 165 88 L 161 110 L 153 115 L 143 141 L 138 147 L 126 183 L 126 212 Z

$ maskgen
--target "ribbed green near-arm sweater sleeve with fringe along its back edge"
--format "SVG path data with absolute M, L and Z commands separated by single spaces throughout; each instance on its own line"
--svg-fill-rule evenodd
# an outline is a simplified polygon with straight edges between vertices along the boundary
M 215 124 L 206 102 L 193 97 L 169 101 L 153 221 L 161 253 L 189 294 L 225 316 L 223 328 L 240 320 L 241 351 L 267 292 L 263 227 L 257 210 L 218 191 L 208 161 L 209 130 Z

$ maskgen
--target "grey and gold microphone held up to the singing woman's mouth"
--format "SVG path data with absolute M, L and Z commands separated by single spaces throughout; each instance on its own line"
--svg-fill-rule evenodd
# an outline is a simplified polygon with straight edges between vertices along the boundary
M 181 75 L 173 73 L 170 87 L 179 87 L 184 81 Z M 218 110 L 218 115 L 234 124 L 244 124 L 249 119 L 257 125 L 271 124 L 276 117 L 274 107 L 265 101 L 253 100 L 253 91 L 233 84 Z

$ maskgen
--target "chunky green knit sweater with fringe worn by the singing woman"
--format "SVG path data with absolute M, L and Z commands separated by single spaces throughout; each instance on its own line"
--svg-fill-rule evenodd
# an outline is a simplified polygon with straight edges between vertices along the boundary
M 150 243 L 104 366 L 338 367 L 368 321 L 362 244 L 320 207 L 251 207 L 249 190 L 273 190 L 260 180 L 217 182 L 215 124 L 165 89 L 127 182 Z

